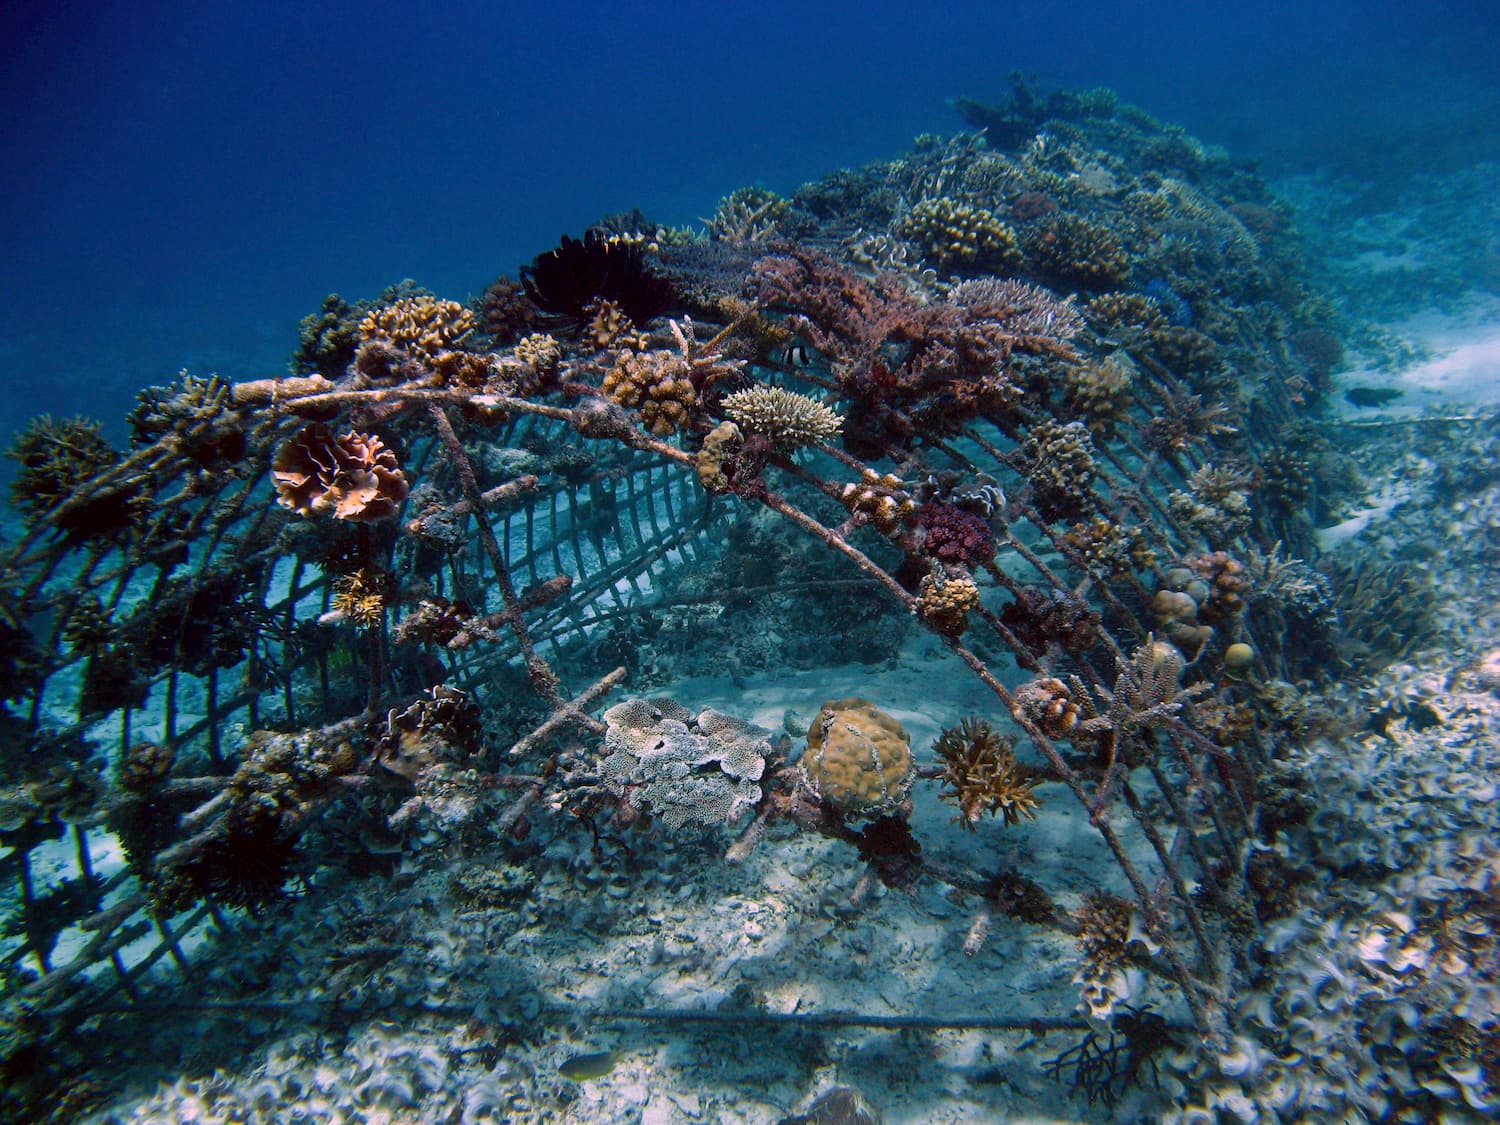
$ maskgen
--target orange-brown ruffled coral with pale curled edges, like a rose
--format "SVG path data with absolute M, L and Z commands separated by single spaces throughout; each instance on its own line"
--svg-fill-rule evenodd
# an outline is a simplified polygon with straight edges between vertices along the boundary
M 272 480 L 276 502 L 300 516 L 374 524 L 394 516 L 406 498 L 406 477 L 380 438 L 357 430 L 336 438 L 320 424 L 278 450 Z

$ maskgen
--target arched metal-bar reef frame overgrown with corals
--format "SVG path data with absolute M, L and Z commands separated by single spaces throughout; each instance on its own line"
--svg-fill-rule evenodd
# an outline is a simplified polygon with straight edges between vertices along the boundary
M 981 836 L 963 870 L 924 860 L 904 790 L 842 806 L 784 744 L 729 858 L 774 822 L 848 840 L 870 880 L 964 892 L 968 952 L 1053 926 L 1096 1014 L 1132 966 L 1222 1041 L 1316 652 L 1290 639 L 1318 594 L 1292 435 L 1318 393 L 1298 333 L 1323 328 L 1248 172 L 1112 104 L 1028 114 L 1008 147 L 928 138 L 790 201 L 736 194 L 710 240 L 606 226 L 476 309 L 330 306 L 327 372 L 153 388 L 126 454 L 28 430 L 0 552 L 12 1034 L 190 972 L 186 938 L 273 897 L 336 802 L 501 836 L 620 814 L 597 712 L 627 672 L 579 669 L 759 507 L 940 638 L 1023 740 L 1020 782 L 990 759 L 1010 789 L 916 783 L 1005 831 L 1065 789 L 1132 898 L 1058 909 Z

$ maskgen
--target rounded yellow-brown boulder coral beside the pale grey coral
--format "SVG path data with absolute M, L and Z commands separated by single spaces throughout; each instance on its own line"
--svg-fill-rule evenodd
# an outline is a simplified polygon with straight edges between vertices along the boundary
M 807 732 L 802 770 L 825 801 L 850 816 L 879 816 L 912 786 L 910 736 L 867 699 L 831 699 Z

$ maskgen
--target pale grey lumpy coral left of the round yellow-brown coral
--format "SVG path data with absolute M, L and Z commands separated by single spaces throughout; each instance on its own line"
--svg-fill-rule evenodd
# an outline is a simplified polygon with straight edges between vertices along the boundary
M 668 828 L 730 824 L 760 801 L 770 730 L 670 699 L 615 704 L 604 724 L 604 784 Z

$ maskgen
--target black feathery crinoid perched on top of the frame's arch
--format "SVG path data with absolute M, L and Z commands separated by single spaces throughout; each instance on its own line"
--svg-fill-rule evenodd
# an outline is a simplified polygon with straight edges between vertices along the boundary
M 562 236 L 555 250 L 520 270 L 531 303 L 560 327 L 580 328 L 609 302 L 638 327 L 672 306 L 672 284 L 645 264 L 645 248 L 590 230 L 582 240 Z

